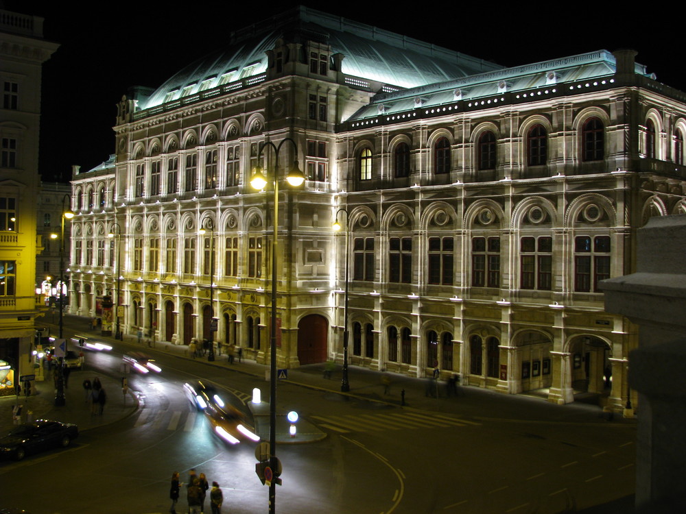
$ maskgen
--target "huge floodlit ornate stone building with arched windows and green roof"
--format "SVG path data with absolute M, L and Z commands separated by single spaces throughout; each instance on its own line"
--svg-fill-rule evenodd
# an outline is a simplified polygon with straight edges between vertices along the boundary
M 280 367 L 342 360 L 348 297 L 353 365 L 619 409 L 637 334 L 598 282 L 686 212 L 684 134 L 632 51 L 504 68 L 296 8 L 123 96 L 115 154 L 73 175 L 70 310 L 112 295 L 177 344 L 214 317 L 267 362 L 275 265 Z

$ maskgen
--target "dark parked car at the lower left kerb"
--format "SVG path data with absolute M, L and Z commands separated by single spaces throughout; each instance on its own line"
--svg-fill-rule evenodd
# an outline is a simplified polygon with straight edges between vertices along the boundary
M 12 456 L 21 461 L 26 454 L 41 452 L 49 448 L 65 448 L 79 437 L 78 426 L 49 419 L 38 419 L 33 423 L 16 426 L 0 438 L 0 456 Z

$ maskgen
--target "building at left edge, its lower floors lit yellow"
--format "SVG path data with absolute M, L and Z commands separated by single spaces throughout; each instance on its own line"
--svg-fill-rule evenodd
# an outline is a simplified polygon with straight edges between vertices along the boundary
M 0 10 L 0 395 L 34 374 L 40 75 L 57 47 L 39 16 Z

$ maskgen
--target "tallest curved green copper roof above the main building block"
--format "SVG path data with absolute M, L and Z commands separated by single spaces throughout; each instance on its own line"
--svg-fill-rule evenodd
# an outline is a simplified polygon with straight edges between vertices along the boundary
M 226 49 L 215 51 L 176 73 L 141 106 L 167 101 L 260 75 L 267 68 L 265 52 L 279 38 L 318 40 L 342 53 L 342 72 L 401 88 L 412 88 L 501 69 L 501 66 L 364 23 L 305 7 L 231 34 Z

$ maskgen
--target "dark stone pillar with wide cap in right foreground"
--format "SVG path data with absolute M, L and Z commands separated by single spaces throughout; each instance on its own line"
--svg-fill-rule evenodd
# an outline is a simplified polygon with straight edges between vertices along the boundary
M 686 216 L 637 231 L 637 272 L 602 282 L 608 313 L 639 325 L 629 384 L 639 391 L 636 506 L 686 511 Z

